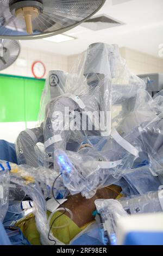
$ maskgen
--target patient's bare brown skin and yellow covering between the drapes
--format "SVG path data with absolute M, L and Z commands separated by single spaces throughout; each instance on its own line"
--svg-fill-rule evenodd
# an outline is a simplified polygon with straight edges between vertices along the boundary
M 52 226 L 54 237 L 66 245 L 69 244 L 74 237 L 87 227 L 87 225 L 95 221 L 95 216 L 92 215 L 93 211 L 96 210 L 94 203 L 95 200 L 102 198 L 115 199 L 120 195 L 120 193 L 121 187 L 111 185 L 98 190 L 95 196 L 91 199 L 85 199 L 82 197 L 82 194 L 76 194 L 68 197 L 67 201 L 60 207 L 64 206 L 65 208 L 70 209 L 73 213 L 73 220 L 70 220 L 68 212 L 65 212 L 62 216 L 60 215 L 63 211 L 55 212 L 51 220 L 52 225 L 53 221 L 56 219 Z M 47 211 L 47 215 L 49 216 L 50 214 L 51 212 Z M 59 227 L 67 223 L 69 224 L 66 227 L 55 229 L 55 227 Z M 32 245 L 41 245 L 40 234 L 39 231 L 37 231 L 35 217 L 33 214 L 24 217 L 17 223 L 17 226 L 21 228 L 24 236 L 26 236 Z

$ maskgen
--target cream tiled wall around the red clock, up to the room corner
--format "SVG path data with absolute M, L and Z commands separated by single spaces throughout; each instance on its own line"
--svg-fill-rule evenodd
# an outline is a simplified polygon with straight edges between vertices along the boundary
M 32 74 L 32 64 L 36 60 L 41 60 L 46 66 L 46 78 L 49 70 L 61 69 L 64 71 L 68 70 L 67 57 L 57 54 L 34 51 L 29 48 L 22 48 L 20 52 L 19 59 L 26 60 L 27 66 L 20 66 L 17 64 L 17 61 L 9 66 L 9 68 L 2 70 L 0 73 L 8 75 L 18 75 L 18 76 L 27 76 L 33 77 Z

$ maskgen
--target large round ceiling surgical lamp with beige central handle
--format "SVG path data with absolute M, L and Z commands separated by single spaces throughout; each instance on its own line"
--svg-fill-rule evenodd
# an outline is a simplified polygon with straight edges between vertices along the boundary
M 0 38 L 37 39 L 72 29 L 105 0 L 0 0 Z

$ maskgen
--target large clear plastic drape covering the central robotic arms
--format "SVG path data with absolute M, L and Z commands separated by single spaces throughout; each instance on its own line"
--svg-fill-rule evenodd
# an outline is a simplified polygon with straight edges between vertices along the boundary
M 141 164 L 157 175 L 162 166 L 162 98 L 152 99 L 145 88 L 116 45 L 92 44 L 70 74 L 49 73 L 39 115 L 45 162 L 62 174 L 72 194 L 90 198 Z M 70 142 L 73 147 L 66 151 Z M 62 173 L 60 154 L 73 175 Z

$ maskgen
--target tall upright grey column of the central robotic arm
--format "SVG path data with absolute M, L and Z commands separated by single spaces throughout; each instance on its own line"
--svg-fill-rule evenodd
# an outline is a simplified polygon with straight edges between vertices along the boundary
M 89 91 L 94 95 L 94 100 L 98 102 L 101 136 L 109 136 L 111 132 L 112 78 L 115 77 L 118 56 L 116 45 L 100 42 L 91 44 L 86 52 L 84 76 L 90 87 Z M 89 108 L 90 106 L 87 106 L 86 110 L 89 111 Z

